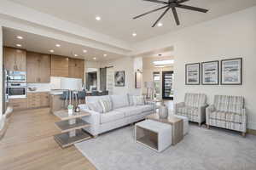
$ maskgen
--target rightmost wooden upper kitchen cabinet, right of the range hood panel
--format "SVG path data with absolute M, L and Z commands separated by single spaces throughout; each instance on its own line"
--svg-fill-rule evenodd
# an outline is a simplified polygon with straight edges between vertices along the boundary
M 84 60 L 69 59 L 68 77 L 84 79 Z

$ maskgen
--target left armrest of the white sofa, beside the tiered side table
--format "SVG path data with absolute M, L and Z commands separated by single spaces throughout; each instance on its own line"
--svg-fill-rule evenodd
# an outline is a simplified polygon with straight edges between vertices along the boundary
M 85 122 L 90 123 L 90 127 L 85 127 L 84 130 L 93 136 L 96 136 L 99 134 L 99 127 L 100 127 L 100 121 L 101 121 L 101 113 L 96 111 L 90 111 L 86 107 L 83 107 L 81 109 L 82 111 L 86 111 L 90 113 L 90 116 L 83 116 L 82 119 Z

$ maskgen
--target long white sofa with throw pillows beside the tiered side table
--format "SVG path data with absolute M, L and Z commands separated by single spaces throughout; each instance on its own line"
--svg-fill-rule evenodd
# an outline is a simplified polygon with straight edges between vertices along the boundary
M 90 103 L 98 104 L 99 100 L 104 98 L 111 99 L 113 111 L 102 114 L 101 111 L 89 109 Z M 133 105 L 132 95 L 128 94 L 88 96 L 85 99 L 85 103 L 87 105 L 79 105 L 79 107 L 82 111 L 87 111 L 91 115 L 83 117 L 84 121 L 90 123 L 90 127 L 86 127 L 84 130 L 95 137 L 100 133 L 143 120 L 145 116 L 155 113 L 156 110 L 154 102 L 148 102 L 145 105 Z M 100 110 L 101 108 L 97 109 Z

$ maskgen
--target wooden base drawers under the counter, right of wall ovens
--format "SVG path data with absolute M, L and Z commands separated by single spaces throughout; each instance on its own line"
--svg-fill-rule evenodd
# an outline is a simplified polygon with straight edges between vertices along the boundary
M 49 93 L 27 93 L 27 108 L 49 107 Z

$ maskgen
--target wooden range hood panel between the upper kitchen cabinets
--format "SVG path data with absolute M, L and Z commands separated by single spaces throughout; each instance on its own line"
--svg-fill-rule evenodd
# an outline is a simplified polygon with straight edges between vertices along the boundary
M 68 77 L 68 58 L 52 55 L 51 56 L 51 76 Z

